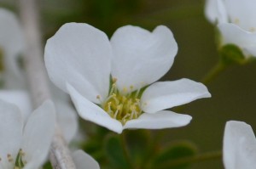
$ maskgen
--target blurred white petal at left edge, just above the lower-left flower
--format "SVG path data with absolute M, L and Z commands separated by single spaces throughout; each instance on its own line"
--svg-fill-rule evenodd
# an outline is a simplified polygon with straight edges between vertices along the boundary
M 29 94 L 26 91 L 0 90 L 0 99 L 18 106 L 24 121 L 26 121 L 27 116 L 32 112 L 31 100 L 29 98 Z

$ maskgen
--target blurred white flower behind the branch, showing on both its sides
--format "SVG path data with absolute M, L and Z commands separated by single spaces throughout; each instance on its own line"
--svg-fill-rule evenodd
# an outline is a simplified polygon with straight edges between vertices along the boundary
M 58 121 L 63 131 L 65 140 L 70 143 L 78 132 L 78 116 L 71 105 L 68 104 L 68 95 L 60 91 L 63 93 L 61 94 L 58 88 L 54 89 L 55 109 L 57 110 L 56 121 Z M 25 90 L 0 90 L 0 99 L 10 104 L 15 104 L 20 109 L 24 121 L 32 112 L 31 99 L 29 98 L 29 93 Z

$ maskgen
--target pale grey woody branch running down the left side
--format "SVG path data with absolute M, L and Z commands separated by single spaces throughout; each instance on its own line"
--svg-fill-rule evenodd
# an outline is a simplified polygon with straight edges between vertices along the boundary
M 48 78 L 44 68 L 41 34 L 38 26 L 36 0 L 20 0 L 20 17 L 26 37 L 25 66 L 32 104 L 36 108 L 46 99 L 51 99 Z M 75 169 L 60 127 L 55 127 L 49 160 L 55 169 Z

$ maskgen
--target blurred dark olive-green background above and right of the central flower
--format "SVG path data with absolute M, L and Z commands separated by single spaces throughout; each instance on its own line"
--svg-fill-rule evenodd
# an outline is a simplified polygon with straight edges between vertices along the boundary
M 204 16 L 203 0 L 41 0 L 40 24 L 44 42 L 67 22 L 85 22 L 112 36 L 119 26 L 139 25 L 152 31 L 167 25 L 178 44 L 172 69 L 162 80 L 183 77 L 200 82 L 218 63 L 214 27 Z M 16 0 L 0 0 L 2 7 L 17 11 Z M 187 127 L 166 129 L 162 144 L 188 139 L 200 152 L 222 149 L 224 124 L 246 121 L 256 131 L 256 63 L 234 65 L 207 84 L 212 99 L 183 106 L 193 116 Z M 222 160 L 202 161 L 191 168 L 224 168 Z

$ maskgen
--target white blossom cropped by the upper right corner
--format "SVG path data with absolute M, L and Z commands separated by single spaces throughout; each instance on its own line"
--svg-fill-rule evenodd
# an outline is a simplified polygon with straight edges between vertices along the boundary
M 246 57 L 256 57 L 256 1 L 207 0 L 206 16 L 218 23 L 221 45 L 235 44 Z

